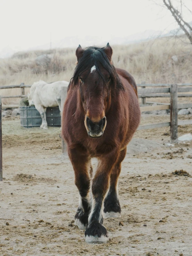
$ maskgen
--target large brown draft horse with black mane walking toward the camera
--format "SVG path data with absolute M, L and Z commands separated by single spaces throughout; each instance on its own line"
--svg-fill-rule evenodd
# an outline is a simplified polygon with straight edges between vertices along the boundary
M 76 56 L 62 136 L 80 193 L 75 224 L 85 229 L 86 242 L 102 243 L 107 241 L 103 212 L 104 217 L 121 213 L 117 184 L 127 144 L 140 122 L 137 86 L 128 72 L 113 66 L 109 43 L 103 48 L 79 45 Z M 92 157 L 98 159 L 93 177 Z

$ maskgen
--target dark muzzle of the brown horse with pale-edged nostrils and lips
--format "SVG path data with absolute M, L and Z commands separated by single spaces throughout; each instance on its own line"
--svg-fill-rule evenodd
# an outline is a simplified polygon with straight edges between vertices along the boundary
M 91 119 L 86 117 L 86 126 L 88 127 L 88 135 L 91 138 L 100 138 L 103 136 L 106 127 L 106 117 L 104 116 L 99 122 L 92 122 Z

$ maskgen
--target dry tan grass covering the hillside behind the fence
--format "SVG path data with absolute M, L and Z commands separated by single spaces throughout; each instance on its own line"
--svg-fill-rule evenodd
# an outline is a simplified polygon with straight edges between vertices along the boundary
M 112 48 L 115 66 L 129 71 L 137 83 L 192 82 L 192 46 L 184 37 L 159 38 Z M 36 57 L 42 54 L 52 55 L 49 65 L 36 64 Z M 174 55 L 179 58 L 177 63 L 172 60 Z M 12 58 L 0 59 L 0 84 L 32 84 L 40 79 L 46 82 L 69 81 L 75 62 L 75 49 L 18 52 Z M 20 89 L 1 90 L 2 96 L 16 94 L 20 94 Z M 13 104 L 18 101 L 19 99 L 4 99 L 3 103 Z

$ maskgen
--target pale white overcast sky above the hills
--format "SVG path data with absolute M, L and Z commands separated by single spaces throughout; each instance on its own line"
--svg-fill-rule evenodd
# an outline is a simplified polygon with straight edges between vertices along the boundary
M 192 10 L 192 0 L 184 1 Z M 0 51 L 40 46 L 50 42 L 50 35 L 52 41 L 93 35 L 99 42 L 111 36 L 177 27 L 169 11 L 154 2 L 163 0 L 0 0 Z M 184 15 L 192 20 L 189 13 Z

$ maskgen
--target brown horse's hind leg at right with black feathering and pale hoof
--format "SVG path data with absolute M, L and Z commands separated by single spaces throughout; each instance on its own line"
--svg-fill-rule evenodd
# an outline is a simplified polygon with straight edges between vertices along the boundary
M 107 197 L 104 200 L 104 218 L 120 217 L 121 207 L 118 199 L 118 178 L 121 172 L 121 162 L 125 158 L 126 150 L 120 151 L 118 160 L 113 166 L 110 175 L 110 187 Z

